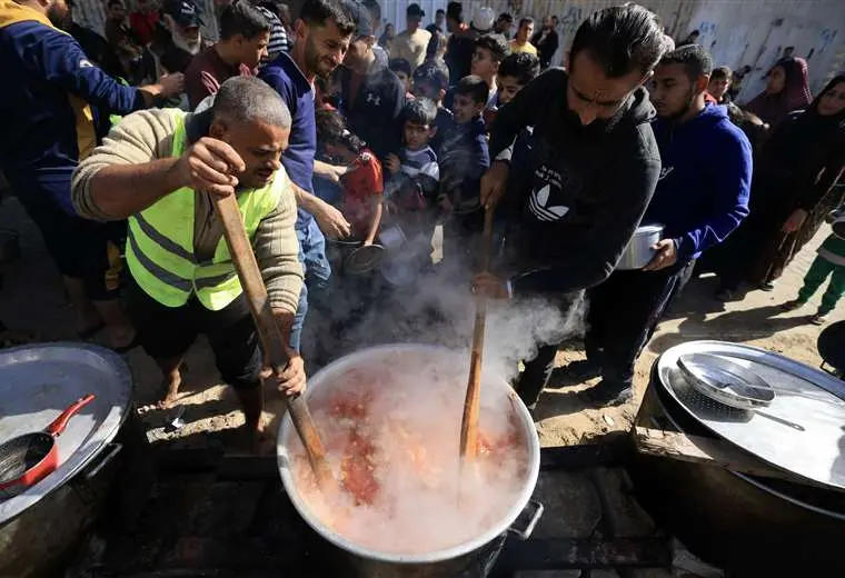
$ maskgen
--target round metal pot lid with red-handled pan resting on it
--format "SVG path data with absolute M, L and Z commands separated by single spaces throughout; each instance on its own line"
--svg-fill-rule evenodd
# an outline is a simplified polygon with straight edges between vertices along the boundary
M 58 489 L 117 435 L 132 397 L 126 362 L 102 347 L 43 343 L 0 351 L 0 442 L 43 430 L 87 393 L 97 398 L 56 438 L 59 466 L 27 491 L 0 501 L 0 526 Z

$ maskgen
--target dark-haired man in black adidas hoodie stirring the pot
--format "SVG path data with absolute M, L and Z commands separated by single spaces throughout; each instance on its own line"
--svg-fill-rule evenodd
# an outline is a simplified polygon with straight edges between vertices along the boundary
M 599 10 L 576 32 L 569 73 L 540 74 L 499 110 L 481 202 L 494 206 L 507 189 L 521 210 L 505 246 L 509 275 L 479 275 L 477 291 L 543 296 L 568 311 L 586 288 L 607 279 L 660 171 L 649 126 L 655 111 L 643 84 L 669 42 L 640 6 Z M 525 366 L 517 391 L 529 407 L 556 351 L 541 347 Z

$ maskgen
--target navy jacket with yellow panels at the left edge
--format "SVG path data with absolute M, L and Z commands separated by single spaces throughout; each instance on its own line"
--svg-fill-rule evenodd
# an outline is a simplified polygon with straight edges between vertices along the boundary
M 46 16 L 0 0 L 0 170 L 18 195 L 73 215 L 70 177 L 108 130 L 108 114 L 145 108 Z M 99 126 L 98 126 L 99 124 Z M 34 200 L 34 199 L 33 199 Z

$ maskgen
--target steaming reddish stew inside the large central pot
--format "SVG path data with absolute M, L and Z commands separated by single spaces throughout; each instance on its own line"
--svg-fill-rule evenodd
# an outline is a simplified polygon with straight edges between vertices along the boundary
M 473 539 L 507 514 L 527 476 L 519 418 L 506 395 L 484 395 L 478 459 L 460 475 L 457 371 L 402 358 L 315 391 L 309 406 L 339 487 L 317 487 L 295 436 L 289 449 L 297 490 L 324 525 L 360 547 L 419 554 Z

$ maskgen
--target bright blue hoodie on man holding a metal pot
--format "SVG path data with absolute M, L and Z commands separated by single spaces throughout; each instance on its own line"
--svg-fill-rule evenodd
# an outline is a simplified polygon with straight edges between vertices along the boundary
M 688 262 L 748 215 L 752 147 L 725 107 L 714 104 L 683 124 L 657 119 L 652 129 L 663 168 L 643 222 L 665 225 L 678 262 Z

